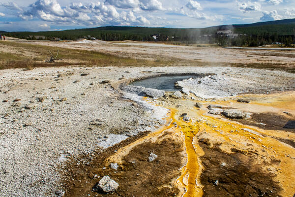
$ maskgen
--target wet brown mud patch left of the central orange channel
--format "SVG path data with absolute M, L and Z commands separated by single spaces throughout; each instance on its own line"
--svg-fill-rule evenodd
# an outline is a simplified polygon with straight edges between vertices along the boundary
M 165 131 L 156 142 L 142 143 L 132 148 L 129 154 L 122 158 L 122 164 L 119 164 L 118 170 L 110 168 L 108 161 L 108 158 L 116 152 L 114 148 L 109 148 L 105 153 L 100 153 L 100 156 L 93 159 L 89 165 L 77 166 L 67 178 L 65 196 L 177 196 L 179 190 L 175 187 L 174 180 L 180 176 L 179 168 L 184 163 L 182 153 L 184 147 L 181 141 L 170 138 L 170 135 L 169 131 Z M 143 136 L 136 138 L 141 137 Z M 131 143 L 132 141 L 135 140 L 129 140 L 128 142 Z M 122 147 L 127 145 L 128 142 L 123 142 L 117 146 Z M 150 153 L 156 154 L 157 159 L 149 162 Z M 106 175 L 119 184 L 116 192 L 105 194 L 96 190 L 97 183 Z M 75 177 L 75 180 L 72 180 L 71 176 Z

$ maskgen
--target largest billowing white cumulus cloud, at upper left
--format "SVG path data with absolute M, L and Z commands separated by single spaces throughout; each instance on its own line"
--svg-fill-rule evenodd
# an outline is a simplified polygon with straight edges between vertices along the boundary
M 136 16 L 134 12 L 124 11 L 109 2 L 70 3 L 68 6 L 60 6 L 57 0 L 37 0 L 30 4 L 19 17 L 24 20 L 34 18 L 56 24 L 84 24 L 84 25 L 149 25 L 149 20 L 142 15 Z M 123 6 L 125 2 L 137 4 L 140 9 L 149 11 L 163 9 L 162 4 L 157 0 L 118 0 Z M 39 27 L 41 28 L 41 27 Z M 45 28 L 45 27 L 43 27 Z

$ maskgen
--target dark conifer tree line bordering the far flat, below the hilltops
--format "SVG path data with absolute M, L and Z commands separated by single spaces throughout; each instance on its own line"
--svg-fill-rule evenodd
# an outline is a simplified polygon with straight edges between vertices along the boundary
M 144 30 L 143 28 L 142 30 Z M 151 29 L 151 28 L 150 28 Z M 179 43 L 197 43 L 197 44 L 217 44 L 219 46 L 261 46 L 265 44 L 281 43 L 282 46 L 294 46 L 295 43 L 295 29 L 294 33 L 289 35 L 280 35 L 278 33 L 258 33 L 260 31 L 253 31 L 249 34 L 238 34 L 238 36 L 227 36 L 226 34 L 217 34 L 216 28 L 206 29 L 206 31 L 199 31 L 197 29 L 163 29 L 159 28 L 155 30 L 142 31 L 140 28 L 136 31 L 108 31 L 95 29 L 93 31 L 86 30 L 69 30 L 60 32 L 40 32 L 33 33 L 35 35 L 44 35 L 46 40 L 51 40 L 53 37 L 58 37 L 62 40 L 77 40 L 79 38 L 95 37 L 99 40 L 105 41 L 122 41 L 122 40 L 134 40 L 134 41 L 155 41 L 151 31 L 164 31 L 164 33 L 157 33 L 156 41 L 175 41 Z M 248 28 L 246 28 L 248 29 Z M 235 31 L 235 30 L 233 30 Z M 241 31 L 239 29 L 238 31 Z M 210 33 L 210 34 L 204 34 Z M 257 33 L 257 34 L 255 34 Z M 36 37 L 28 37 L 32 33 L 6 33 L 7 36 L 18 37 L 29 40 L 37 40 Z M 42 39 L 42 38 L 39 38 Z

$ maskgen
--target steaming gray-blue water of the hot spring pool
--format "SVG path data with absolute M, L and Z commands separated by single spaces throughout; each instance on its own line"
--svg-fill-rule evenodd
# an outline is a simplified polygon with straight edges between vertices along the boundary
M 182 81 L 189 78 L 198 78 L 196 75 L 174 75 L 174 76 L 159 76 L 148 79 L 142 79 L 130 83 L 132 86 L 142 86 L 145 88 L 154 88 L 164 91 L 175 91 L 177 88 L 174 86 L 174 82 Z

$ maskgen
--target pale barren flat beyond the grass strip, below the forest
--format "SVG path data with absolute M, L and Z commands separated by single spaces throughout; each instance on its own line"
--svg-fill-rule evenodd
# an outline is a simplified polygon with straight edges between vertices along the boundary
M 78 41 L 78 42 L 31 42 L 45 46 L 66 47 L 83 50 L 105 52 L 121 57 L 154 60 L 157 58 L 180 59 L 183 64 L 186 61 L 198 61 L 204 66 L 257 66 L 257 67 L 293 67 L 295 62 L 295 50 L 260 50 L 260 48 L 235 49 L 218 47 L 194 47 L 178 46 L 155 43 L 134 42 L 102 42 L 102 41 Z M 260 66 L 259 66 L 260 65 Z

